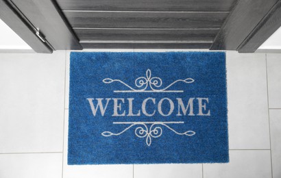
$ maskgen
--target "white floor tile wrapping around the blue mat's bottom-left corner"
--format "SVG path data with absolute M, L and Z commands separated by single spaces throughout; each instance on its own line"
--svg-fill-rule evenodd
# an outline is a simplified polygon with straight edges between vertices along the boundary
M 67 165 L 67 140 L 68 140 L 68 118 L 69 110 L 65 110 L 64 119 L 64 178 L 133 178 L 133 165 Z

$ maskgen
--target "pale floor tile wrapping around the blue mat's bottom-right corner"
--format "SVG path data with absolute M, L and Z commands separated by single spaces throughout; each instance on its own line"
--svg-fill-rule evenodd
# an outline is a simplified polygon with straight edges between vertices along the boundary
M 204 164 L 204 178 L 271 178 L 270 151 L 230 151 L 228 164 Z

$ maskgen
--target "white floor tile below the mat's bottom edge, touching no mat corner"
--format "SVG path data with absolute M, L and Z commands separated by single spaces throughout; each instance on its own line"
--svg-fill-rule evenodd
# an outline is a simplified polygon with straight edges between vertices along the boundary
M 202 164 L 135 164 L 134 178 L 201 178 Z

